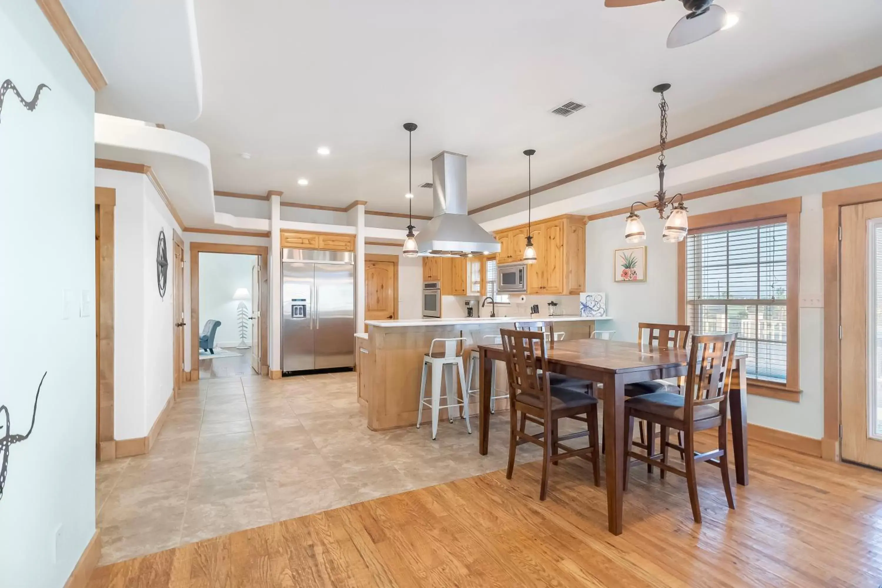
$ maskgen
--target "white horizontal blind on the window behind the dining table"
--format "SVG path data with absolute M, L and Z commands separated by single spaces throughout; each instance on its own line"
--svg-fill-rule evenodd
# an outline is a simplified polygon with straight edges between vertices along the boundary
M 690 234 L 686 314 L 696 334 L 738 334 L 748 377 L 787 383 L 787 223 Z

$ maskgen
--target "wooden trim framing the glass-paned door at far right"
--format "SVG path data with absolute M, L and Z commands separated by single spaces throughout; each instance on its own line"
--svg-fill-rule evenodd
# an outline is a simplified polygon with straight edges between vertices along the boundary
M 840 458 L 841 377 L 840 377 L 840 241 L 842 206 L 882 200 L 882 182 L 855 188 L 824 192 L 824 437 L 822 457 Z

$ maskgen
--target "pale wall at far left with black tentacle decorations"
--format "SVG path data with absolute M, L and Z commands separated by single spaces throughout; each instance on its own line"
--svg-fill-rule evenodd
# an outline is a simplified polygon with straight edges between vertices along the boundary
M 10 91 L 0 119 L 0 308 L 15 333 L 0 345 L 0 436 L 27 433 L 47 373 L 32 435 L 9 448 L 0 584 L 56 588 L 95 532 L 94 93 L 34 2 L 0 4 L 0 72 L 26 100 L 50 88 L 33 112 Z

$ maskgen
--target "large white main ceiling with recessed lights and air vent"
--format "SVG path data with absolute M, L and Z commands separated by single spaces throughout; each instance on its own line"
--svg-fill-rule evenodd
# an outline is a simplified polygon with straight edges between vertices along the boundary
M 216 190 L 406 211 L 412 121 L 415 185 L 439 151 L 467 153 L 474 208 L 526 189 L 527 147 L 542 184 L 652 145 L 660 82 L 674 138 L 879 64 L 878 0 L 718 1 L 738 26 L 668 49 L 674 1 L 198 0 L 203 114 L 169 128 L 209 146 Z M 588 108 L 549 114 L 567 100 Z

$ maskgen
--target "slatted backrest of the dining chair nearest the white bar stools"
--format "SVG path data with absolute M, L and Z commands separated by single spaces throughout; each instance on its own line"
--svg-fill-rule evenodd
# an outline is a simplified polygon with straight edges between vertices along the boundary
M 508 375 L 509 400 L 514 406 L 518 394 L 532 394 L 544 398 L 550 410 L 548 394 L 549 369 L 545 335 L 542 331 L 512 331 L 500 329 L 505 368 Z

